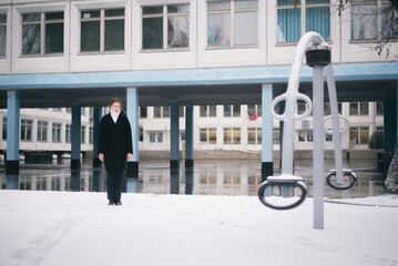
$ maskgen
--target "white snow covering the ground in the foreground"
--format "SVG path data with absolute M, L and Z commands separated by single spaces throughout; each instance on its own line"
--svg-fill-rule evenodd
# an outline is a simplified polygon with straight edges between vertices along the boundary
M 398 265 L 398 197 L 273 211 L 255 196 L 0 191 L 0 265 Z M 340 200 L 339 203 L 345 202 Z M 365 205 L 358 205 L 358 204 Z

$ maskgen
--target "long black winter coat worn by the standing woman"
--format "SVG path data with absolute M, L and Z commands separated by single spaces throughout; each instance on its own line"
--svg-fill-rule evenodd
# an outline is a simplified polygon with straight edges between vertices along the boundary
M 125 168 L 127 153 L 133 153 L 131 126 L 127 116 L 120 113 L 116 123 L 111 113 L 104 115 L 100 123 L 99 153 L 104 154 L 106 170 Z

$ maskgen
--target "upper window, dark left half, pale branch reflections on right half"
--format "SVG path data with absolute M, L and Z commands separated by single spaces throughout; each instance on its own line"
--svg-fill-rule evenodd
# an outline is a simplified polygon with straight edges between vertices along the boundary
M 142 8 L 143 50 L 187 47 L 190 47 L 190 4 Z

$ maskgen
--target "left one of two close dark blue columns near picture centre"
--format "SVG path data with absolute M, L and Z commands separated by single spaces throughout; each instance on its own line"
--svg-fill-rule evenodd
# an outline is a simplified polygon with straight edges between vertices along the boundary
M 180 168 L 180 104 L 172 102 L 170 119 L 170 167 Z

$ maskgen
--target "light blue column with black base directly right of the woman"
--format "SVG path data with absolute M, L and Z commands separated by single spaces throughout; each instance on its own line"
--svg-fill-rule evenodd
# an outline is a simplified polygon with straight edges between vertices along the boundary
M 126 110 L 133 140 L 133 157 L 127 162 L 127 177 L 139 177 L 139 90 L 136 88 L 127 88 Z

